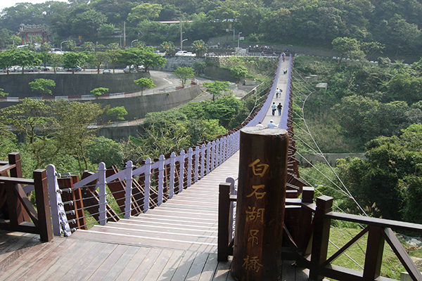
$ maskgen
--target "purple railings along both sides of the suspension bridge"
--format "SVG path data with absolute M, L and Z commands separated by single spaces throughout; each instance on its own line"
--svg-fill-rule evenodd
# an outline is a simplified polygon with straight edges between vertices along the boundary
M 293 57 L 290 55 L 290 67 L 288 69 L 288 86 L 286 89 L 285 106 L 283 106 L 283 115 L 279 127 L 287 128 L 287 114 L 288 104 L 290 103 L 290 77 L 293 66 Z M 98 164 L 98 171 L 91 174 L 81 181 L 77 181 L 71 188 L 60 189 L 58 180 L 60 174 L 56 172 L 54 165 L 50 164 L 47 167 L 47 180 L 49 183 L 51 217 L 53 223 L 53 233 L 56 236 L 69 236 L 76 228 L 86 227 L 87 225 L 77 224 L 75 227 L 75 216 L 79 210 L 72 208 L 72 211 L 66 211 L 67 205 L 77 206 L 78 201 L 82 198 L 73 198 L 69 200 L 66 192 L 72 193 L 81 188 L 92 188 L 98 192 L 98 204 L 91 206 L 98 210 L 96 214 L 98 223 L 101 226 L 108 221 L 110 207 L 110 195 L 112 191 L 107 190 L 110 183 L 120 183 L 124 187 L 124 196 L 120 196 L 120 200 L 124 200 L 124 208 L 120 205 L 122 216 L 129 218 L 134 214 L 134 205 L 139 213 L 145 212 L 151 207 L 160 206 L 162 202 L 172 198 L 175 194 L 182 192 L 184 188 L 188 188 L 193 183 L 196 183 L 207 174 L 210 174 L 217 166 L 221 165 L 226 159 L 229 159 L 239 149 L 240 129 L 244 126 L 256 126 L 262 122 L 267 115 L 271 101 L 273 99 L 275 90 L 277 88 L 277 81 L 281 72 L 281 60 L 274 75 L 271 88 L 267 93 L 267 98 L 255 110 L 248 119 L 243 122 L 241 126 L 230 131 L 224 136 L 219 136 L 216 140 L 196 145 L 194 148 L 188 150 L 181 150 L 177 155 L 172 152 L 170 155 L 160 155 L 160 157 L 153 162 L 151 158 L 147 158 L 142 166 L 134 166 L 132 161 L 126 163 L 122 171 L 117 174 L 106 176 L 108 169 L 103 162 Z M 141 183 L 139 183 L 139 179 Z M 137 185 L 136 187 L 134 185 Z M 142 190 L 143 195 L 141 199 L 134 196 L 134 190 Z M 123 198 L 124 197 L 124 198 Z M 116 202 L 119 200 L 115 200 Z M 116 208 L 116 209 L 117 209 Z M 124 209 L 124 211 L 122 210 Z M 92 210 L 92 209 L 91 209 Z M 91 211 L 90 210 L 90 211 Z M 139 214 L 138 213 L 138 214 Z M 91 215 L 92 212 L 91 212 Z M 79 217 L 80 219 L 80 217 Z M 88 223 L 87 223 L 88 224 Z

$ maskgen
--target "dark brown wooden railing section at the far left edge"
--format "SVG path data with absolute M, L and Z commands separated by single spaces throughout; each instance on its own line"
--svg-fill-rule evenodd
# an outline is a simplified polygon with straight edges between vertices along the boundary
M 22 178 L 19 153 L 0 162 L 0 229 L 39 234 L 41 241 L 53 238 L 46 171 L 35 170 L 34 179 Z M 37 211 L 27 197 L 34 191 Z

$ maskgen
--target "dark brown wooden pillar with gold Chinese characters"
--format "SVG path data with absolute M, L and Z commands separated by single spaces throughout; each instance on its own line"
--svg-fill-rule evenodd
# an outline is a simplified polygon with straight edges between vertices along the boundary
M 278 280 L 281 271 L 288 132 L 241 130 L 236 228 L 231 275 L 236 280 Z

